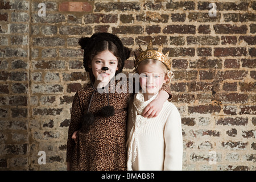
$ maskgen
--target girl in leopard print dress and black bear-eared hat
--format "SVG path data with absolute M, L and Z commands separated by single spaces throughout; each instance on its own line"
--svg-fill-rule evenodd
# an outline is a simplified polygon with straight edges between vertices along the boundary
M 67 169 L 126 170 L 127 106 L 132 93 L 129 86 L 122 93 L 111 90 L 113 84 L 120 84 L 114 77 L 122 72 L 130 51 L 117 36 L 109 33 L 81 38 L 79 44 L 84 49 L 84 67 L 89 72 L 90 83 L 77 91 L 73 99 Z M 162 88 L 159 98 L 144 110 L 144 116 L 157 115 L 168 97 L 170 88 Z

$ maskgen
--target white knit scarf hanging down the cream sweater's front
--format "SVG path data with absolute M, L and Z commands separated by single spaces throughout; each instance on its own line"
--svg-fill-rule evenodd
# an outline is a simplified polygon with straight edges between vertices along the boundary
M 144 118 L 141 114 L 144 110 L 144 108 L 156 97 L 158 96 L 158 93 L 156 93 L 154 96 L 150 98 L 150 100 L 144 101 L 144 94 L 141 93 L 141 91 L 134 96 L 133 100 L 133 106 L 131 107 L 131 118 L 133 121 L 133 127 L 131 128 L 130 135 L 129 135 L 129 141 L 130 143 L 127 143 L 129 145 L 127 155 L 129 156 L 127 161 L 127 170 L 131 171 L 133 170 L 132 163 L 135 161 L 137 156 L 137 144 L 138 144 L 138 134 L 141 130 L 141 126 L 147 122 L 148 118 Z M 133 154 L 132 154 L 133 151 Z

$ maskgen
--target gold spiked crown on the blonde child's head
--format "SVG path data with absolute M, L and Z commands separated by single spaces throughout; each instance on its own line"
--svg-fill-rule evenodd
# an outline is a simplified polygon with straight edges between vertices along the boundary
M 146 59 L 155 59 L 161 61 L 163 64 L 166 65 L 166 67 L 171 70 L 171 63 L 170 60 L 167 59 L 169 55 L 169 51 L 164 55 L 163 52 L 163 45 L 161 45 L 158 48 L 158 51 L 153 49 L 152 46 L 152 40 L 150 40 L 150 43 L 148 43 L 146 51 L 143 51 L 141 46 L 139 46 L 139 55 L 136 56 L 134 53 L 134 67 L 137 69 L 138 64 L 141 63 L 141 61 L 146 60 Z

